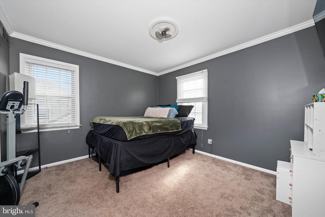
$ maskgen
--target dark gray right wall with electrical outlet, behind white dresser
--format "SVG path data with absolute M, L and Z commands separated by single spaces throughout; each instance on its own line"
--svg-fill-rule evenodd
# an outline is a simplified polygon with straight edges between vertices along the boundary
M 176 76 L 208 69 L 209 128 L 203 148 L 196 130 L 197 149 L 275 171 L 289 140 L 304 139 L 304 105 L 325 87 L 324 67 L 312 26 L 159 76 L 158 103 L 175 104 Z

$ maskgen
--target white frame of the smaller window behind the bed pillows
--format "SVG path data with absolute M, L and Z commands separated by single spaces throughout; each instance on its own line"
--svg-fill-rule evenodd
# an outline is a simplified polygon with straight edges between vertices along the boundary
M 203 78 L 206 78 L 206 86 L 202 89 L 203 94 L 200 95 L 200 97 L 193 97 L 193 98 L 182 98 L 180 92 L 182 91 L 179 87 L 179 82 L 182 80 L 197 77 L 198 75 L 203 75 Z M 195 129 L 202 129 L 207 130 L 208 129 L 208 70 L 202 70 L 198 72 L 193 72 L 190 74 L 182 75 L 176 77 L 177 80 L 177 100 L 176 103 L 178 105 L 194 105 L 194 103 L 200 103 L 202 102 L 202 123 L 198 123 L 194 121 L 194 128 Z M 192 112 L 195 112 L 195 106 L 192 109 Z M 191 113 L 192 113 L 191 112 Z M 188 115 L 190 116 L 190 114 Z

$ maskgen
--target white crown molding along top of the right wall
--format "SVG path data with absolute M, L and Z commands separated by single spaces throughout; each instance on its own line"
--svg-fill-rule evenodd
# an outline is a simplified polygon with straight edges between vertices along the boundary
M 311 19 L 311 20 L 308 20 L 306 22 L 300 23 L 298 25 L 294 25 L 294 26 L 291 26 L 289 28 L 286 28 L 286 29 L 280 30 L 278 32 L 272 33 L 270 35 L 267 35 L 267 36 L 264 36 L 264 37 L 261 37 L 261 38 L 258 38 L 258 39 L 243 43 L 241 45 L 238 45 L 238 46 L 226 49 L 226 50 L 222 50 L 220 52 L 217 52 L 217 53 L 211 54 L 209 56 L 205 56 L 205 57 L 196 59 L 194 61 L 190 61 L 190 62 L 188 62 L 186 64 L 183 64 L 183 65 L 168 69 L 168 70 L 163 71 L 163 72 L 159 72 L 158 76 L 164 75 L 164 74 L 167 74 L 167 73 L 170 73 L 170 72 L 174 72 L 176 70 L 180 70 L 180 69 L 183 69 L 183 68 L 186 68 L 186 67 L 189 67 L 189 66 L 200 64 L 200 63 L 203 63 L 204 61 L 207 61 L 207 60 L 219 57 L 219 56 L 223 56 L 223 55 L 226 55 L 226 54 L 229 54 L 229 53 L 233 53 L 235 51 L 242 50 L 244 48 L 248 48 L 248 47 L 251 47 L 251 46 L 254 46 L 254 45 L 257 45 L 257 44 L 261 44 L 263 42 L 267 42 L 267 41 L 279 38 L 281 36 L 285 36 L 285 35 L 288 35 L 290 33 L 297 32 L 299 30 L 302 30 L 304 28 L 308 28 L 308 27 L 313 26 L 313 25 L 315 25 L 315 23 L 314 23 L 314 20 Z

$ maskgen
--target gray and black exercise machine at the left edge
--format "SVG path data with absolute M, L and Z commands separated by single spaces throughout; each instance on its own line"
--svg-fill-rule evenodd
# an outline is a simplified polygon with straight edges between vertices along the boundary
M 0 100 L 0 114 L 7 115 L 7 120 L 3 120 L 7 123 L 7 159 L 0 163 L 0 205 L 18 205 L 32 160 L 32 155 L 16 157 L 16 115 L 23 114 L 27 105 L 27 81 L 24 81 L 23 94 L 15 90 L 7 91 Z M 11 170 L 13 167 L 16 167 L 15 171 L 25 167 L 20 185 Z

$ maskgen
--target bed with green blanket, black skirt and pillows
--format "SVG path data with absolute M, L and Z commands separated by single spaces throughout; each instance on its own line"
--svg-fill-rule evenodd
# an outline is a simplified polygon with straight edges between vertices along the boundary
M 99 116 L 90 122 L 92 130 L 86 143 L 89 150 L 98 154 L 100 170 L 102 161 L 108 165 L 108 171 L 115 177 L 117 193 L 120 176 L 163 161 L 168 161 L 169 167 L 170 158 L 187 148 L 194 153 L 197 139 L 194 118 L 152 117 L 146 112 L 145 116 L 135 117 Z

